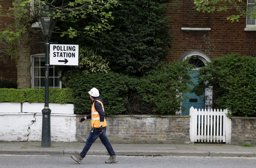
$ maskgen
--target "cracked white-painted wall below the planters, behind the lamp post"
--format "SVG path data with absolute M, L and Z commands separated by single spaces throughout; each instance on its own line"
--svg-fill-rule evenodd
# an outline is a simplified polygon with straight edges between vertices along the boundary
M 0 141 L 41 141 L 42 113 L 0 113 Z M 76 141 L 76 115 L 51 114 L 51 141 Z

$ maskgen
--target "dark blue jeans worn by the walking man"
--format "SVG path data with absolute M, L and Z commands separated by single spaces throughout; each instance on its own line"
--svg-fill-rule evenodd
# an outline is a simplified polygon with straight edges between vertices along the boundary
M 112 148 L 112 145 L 110 144 L 108 138 L 107 138 L 107 134 L 106 134 L 106 127 L 102 128 L 103 132 L 100 133 L 99 132 L 99 128 L 95 128 L 94 132 L 90 132 L 85 145 L 84 145 L 84 149 L 82 150 L 82 152 L 80 153 L 80 155 L 82 157 L 85 157 L 86 153 L 88 152 L 88 150 L 91 148 L 93 142 L 99 137 L 101 143 L 106 147 L 109 155 L 116 155 L 115 151 Z

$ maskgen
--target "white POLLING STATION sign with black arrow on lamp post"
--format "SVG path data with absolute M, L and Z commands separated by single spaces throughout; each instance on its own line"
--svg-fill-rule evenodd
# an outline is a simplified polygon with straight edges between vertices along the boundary
M 78 65 L 78 45 L 50 44 L 50 65 Z

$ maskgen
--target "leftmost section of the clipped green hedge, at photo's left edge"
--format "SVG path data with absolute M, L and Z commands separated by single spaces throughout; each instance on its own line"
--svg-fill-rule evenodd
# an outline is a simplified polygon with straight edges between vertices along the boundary
M 25 92 L 18 89 L 0 89 L 0 102 L 23 103 L 25 102 Z

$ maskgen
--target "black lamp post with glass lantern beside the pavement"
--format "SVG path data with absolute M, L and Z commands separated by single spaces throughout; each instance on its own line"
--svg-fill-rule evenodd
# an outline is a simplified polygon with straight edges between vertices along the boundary
M 42 141 L 41 147 L 51 147 L 51 109 L 49 108 L 49 39 L 57 22 L 56 15 L 50 10 L 50 4 L 46 2 L 44 10 L 36 16 L 36 20 L 42 29 L 45 40 L 45 92 L 44 109 L 42 110 Z

